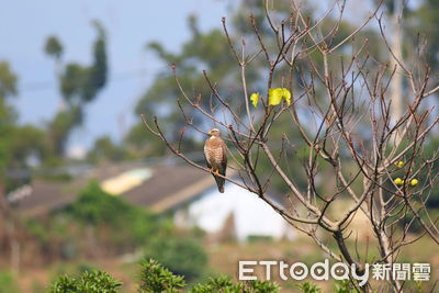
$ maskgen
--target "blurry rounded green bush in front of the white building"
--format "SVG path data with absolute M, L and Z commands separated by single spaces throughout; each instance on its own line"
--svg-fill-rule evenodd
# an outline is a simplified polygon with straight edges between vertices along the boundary
M 189 281 L 202 277 L 207 266 L 203 247 L 190 237 L 156 237 L 146 248 L 146 257 L 157 259 L 173 273 L 184 275 Z

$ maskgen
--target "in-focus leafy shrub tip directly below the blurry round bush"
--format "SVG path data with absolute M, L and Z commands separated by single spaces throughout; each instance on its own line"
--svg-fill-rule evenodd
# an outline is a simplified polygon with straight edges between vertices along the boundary
M 175 275 L 153 259 L 142 262 L 139 292 L 178 292 L 185 286 L 184 278 Z

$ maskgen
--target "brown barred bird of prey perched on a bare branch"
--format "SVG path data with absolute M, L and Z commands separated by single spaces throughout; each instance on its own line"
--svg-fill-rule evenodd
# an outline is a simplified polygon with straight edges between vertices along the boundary
M 219 131 L 212 128 L 209 133 L 209 138 L 204 144 L 204 157 L 206 159 L 207 168 L 211 170 L 215 178 L 218 191 L 224 193 L 224 178 L 218 174 L 226 176 L 227 169 L 227 146 L 221 138 Z

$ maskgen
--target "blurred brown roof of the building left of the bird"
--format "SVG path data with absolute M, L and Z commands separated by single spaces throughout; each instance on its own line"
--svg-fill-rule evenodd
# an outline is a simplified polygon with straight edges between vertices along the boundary
M 46 214 L 75 201 L 91 179 L 99 182 L 122 180 L 121 174 L 133 174 L 136 170 L 148 170 L 150 176 L 144 177 L 117 196 L 124 196 L 136 205 L 148 206 L 155 212 L 175 209 L 215 185 L 211 174 L 192 166 L 112 165 L 91 169 L 68 182 L 34 180 L 31 191 L 14 201 L 13 205 L 29 216 Z

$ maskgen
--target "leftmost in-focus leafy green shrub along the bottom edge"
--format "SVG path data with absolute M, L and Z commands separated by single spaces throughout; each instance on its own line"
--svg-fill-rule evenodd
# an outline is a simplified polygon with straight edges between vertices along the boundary
M 50 293 L 116 293 L 122 283 L 106 272 L 86 271 L 77 278 L 61 275 L 50 289 Z

